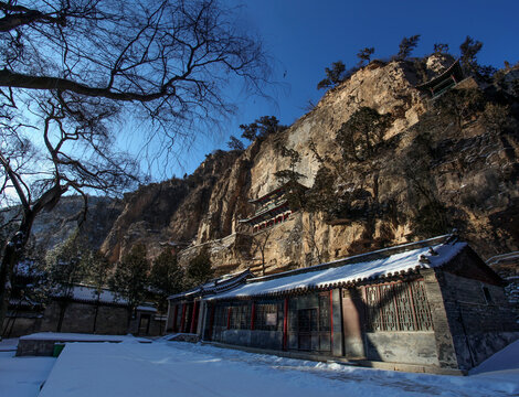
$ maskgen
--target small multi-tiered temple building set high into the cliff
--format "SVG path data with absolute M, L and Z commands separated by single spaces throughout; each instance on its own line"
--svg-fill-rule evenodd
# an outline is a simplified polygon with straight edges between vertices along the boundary
M 253 233 L 257 233 L 287 221 L 293 211 L 285 197 L 285 191 L 286 185 L 283 185 L 258 198 L 250 200 L 250 203 L 257 206 L 256 211 L 250 218 L 240 219 L 240 223 L 250 225 Z

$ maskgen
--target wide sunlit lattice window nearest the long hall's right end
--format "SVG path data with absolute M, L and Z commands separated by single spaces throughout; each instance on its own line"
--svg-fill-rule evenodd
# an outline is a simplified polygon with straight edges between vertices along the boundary
M 433 330 L 422 280 L 364 287 L 364 303 L 371 332 Z

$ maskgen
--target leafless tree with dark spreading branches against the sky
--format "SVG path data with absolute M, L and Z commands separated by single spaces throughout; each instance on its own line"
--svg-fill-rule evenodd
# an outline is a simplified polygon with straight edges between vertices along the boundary
M 123 120 L 145 120 L 142 150 L 168 159 L 179 138 L 233 110 L 233 77 L 261 90 L 264 52 L 232 21 L 216 0 L 0 1 L 0 205 L 21 208 L 2 253 L 0 324 L 36 215 L 70 191 L 86 214 L 88 192 L 138 182 L 117 149 Z

